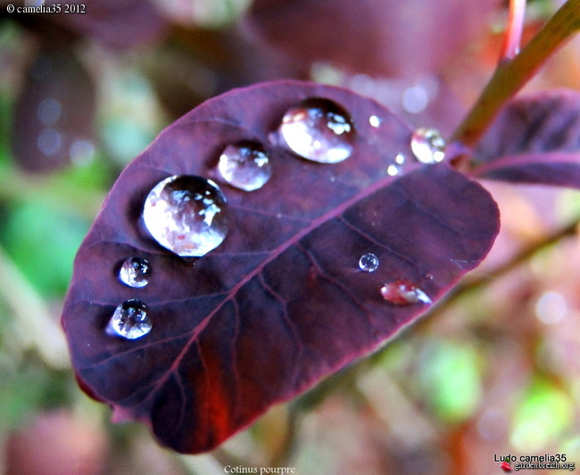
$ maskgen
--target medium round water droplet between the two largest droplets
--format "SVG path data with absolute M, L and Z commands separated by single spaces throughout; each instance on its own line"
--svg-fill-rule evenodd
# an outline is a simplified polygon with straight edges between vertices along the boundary
M 246 192 L 261 188 L 272 176 L 268 152 L 261 143 L 251 141 L 228 145 L 218 169 L 228 184 Z

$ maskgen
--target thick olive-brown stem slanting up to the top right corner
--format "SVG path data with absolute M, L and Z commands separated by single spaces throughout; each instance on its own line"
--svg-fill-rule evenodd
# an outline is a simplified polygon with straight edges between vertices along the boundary
M 493 73 L 476 104 L 452 134 L 451 142 L 473 147 L 506 101 L 534 76 L 551 54 L 580 30 L 580 0 L 568 0 L 512 60 Z

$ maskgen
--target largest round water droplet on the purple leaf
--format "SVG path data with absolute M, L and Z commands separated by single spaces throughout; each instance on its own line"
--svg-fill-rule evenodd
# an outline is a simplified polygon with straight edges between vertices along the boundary
M 199 258 L 228 233 L 226 198 L 202 176 L 170 176 L 145 200 L 143 220 L 153 238 L 178 256 Z

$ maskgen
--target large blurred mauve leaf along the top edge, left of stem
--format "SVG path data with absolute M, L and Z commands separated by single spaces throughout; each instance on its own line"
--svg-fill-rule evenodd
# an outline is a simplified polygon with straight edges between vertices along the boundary
M 352 72 L 433 72 L 488 29 L 499 0 L 254 0 L 249 29 L 302 61 Z

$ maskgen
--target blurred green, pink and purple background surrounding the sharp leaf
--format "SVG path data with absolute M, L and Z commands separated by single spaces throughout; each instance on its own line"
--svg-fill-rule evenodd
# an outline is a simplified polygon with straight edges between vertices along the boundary
M 232 87 L 300 78 L 448 135 L 498 61 L 507 2 L 8 4 L 54 2 L 0 1 L 0 474 L 488 474 L 509 454 L 580 463 L 576 191 L 485 182 L 502 230 L 483 266 L 384 350 L 208 455 L 112 424 L 77 387 L 59 323 L 106 192 L 163 127 Z M 525 39 L 559 4 L 528 2 Z M 550 87 L 580 89 L 578 39 L 526 90 Z

